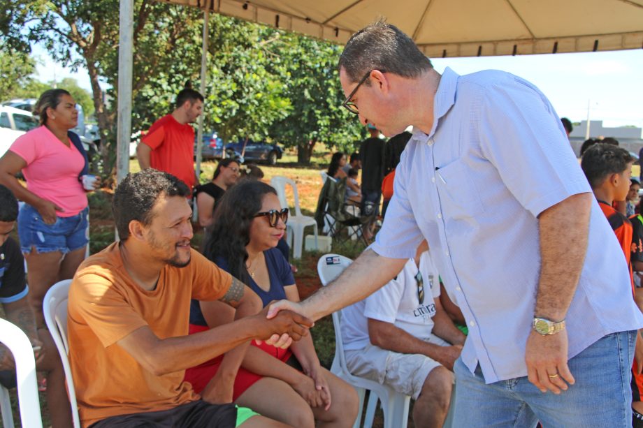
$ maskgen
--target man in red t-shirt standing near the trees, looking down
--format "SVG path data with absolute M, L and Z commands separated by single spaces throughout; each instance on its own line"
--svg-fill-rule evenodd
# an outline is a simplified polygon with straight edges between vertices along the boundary
M 171 114 L 152 124 L 150 131 L 136 147 L 140 169 L 154 168 L 178 177 L 192 190 L 194 173 L 194 128 L 189 124 L 203 111 L 203 95 L 194 89 L 183 89 L 176 96 Z

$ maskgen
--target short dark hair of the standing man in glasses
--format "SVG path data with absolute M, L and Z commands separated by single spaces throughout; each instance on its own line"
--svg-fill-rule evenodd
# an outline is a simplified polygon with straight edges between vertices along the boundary
M 431 60 L 420 52 L 412 38 L 385 20 L 373 22 L 351 36 L 340 57 L 351 82 L 357 82 L 371 70 L 386 71 L 404 78 L 417 78 L 433 68 Z M 370 79 L 364 82 L 370 85 Z

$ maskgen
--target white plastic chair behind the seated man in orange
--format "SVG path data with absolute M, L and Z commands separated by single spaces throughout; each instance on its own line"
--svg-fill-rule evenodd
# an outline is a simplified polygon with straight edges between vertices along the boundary
M 71 416 L 74 428 L 80 428 L 80 418 L 78 417 L 78 404 L 76 403 L 76 391 L 73 388 L 73 377 L 71 376 L 71 367 L 69 366 L 69 344 L 67 343 L 67 300 L 71 279 L 64 279 L 55 283 L 52 288 L 45 294 L 43 301 L 43 315 L 45 323 L 51 334 L 62 367 L 65 371 L 67 380 L 67 392 L 69 403 L 71 404 Z

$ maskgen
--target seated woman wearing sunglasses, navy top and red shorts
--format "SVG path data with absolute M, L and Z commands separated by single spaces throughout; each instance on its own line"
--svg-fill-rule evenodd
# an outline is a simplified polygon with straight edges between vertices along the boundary
M 205 256 L 245 282 L 263 306 L 273 300 L 298 301 L 290 266 L 277 250 L 288 221 L 275 189 L 255 181 L 240 182 L 217 203 Z M 233 309 L 220 302 L 192 301 L 190 333 L 229 323 Z M 222 358 L 187 369 L 205 401 L 231 399 L 261 415 L 293 427 L 350 427 L 357 414 L 354 389 L 319 364 L 310 334 L 287 349 L 257 345 L 247 348 L 234 384 L 219 370 Z

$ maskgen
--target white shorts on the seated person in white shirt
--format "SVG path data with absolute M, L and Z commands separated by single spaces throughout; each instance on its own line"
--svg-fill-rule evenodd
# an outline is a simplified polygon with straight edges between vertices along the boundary
M 431 334 L 430 344 L 451 346 Z M 421 354 L 400 354 L 368 344 L 359 350 L 345 351 L 349 371 L 364 378 L 388 385 L 393 390 L 417 399 L 431 370 L 442 364 Z

